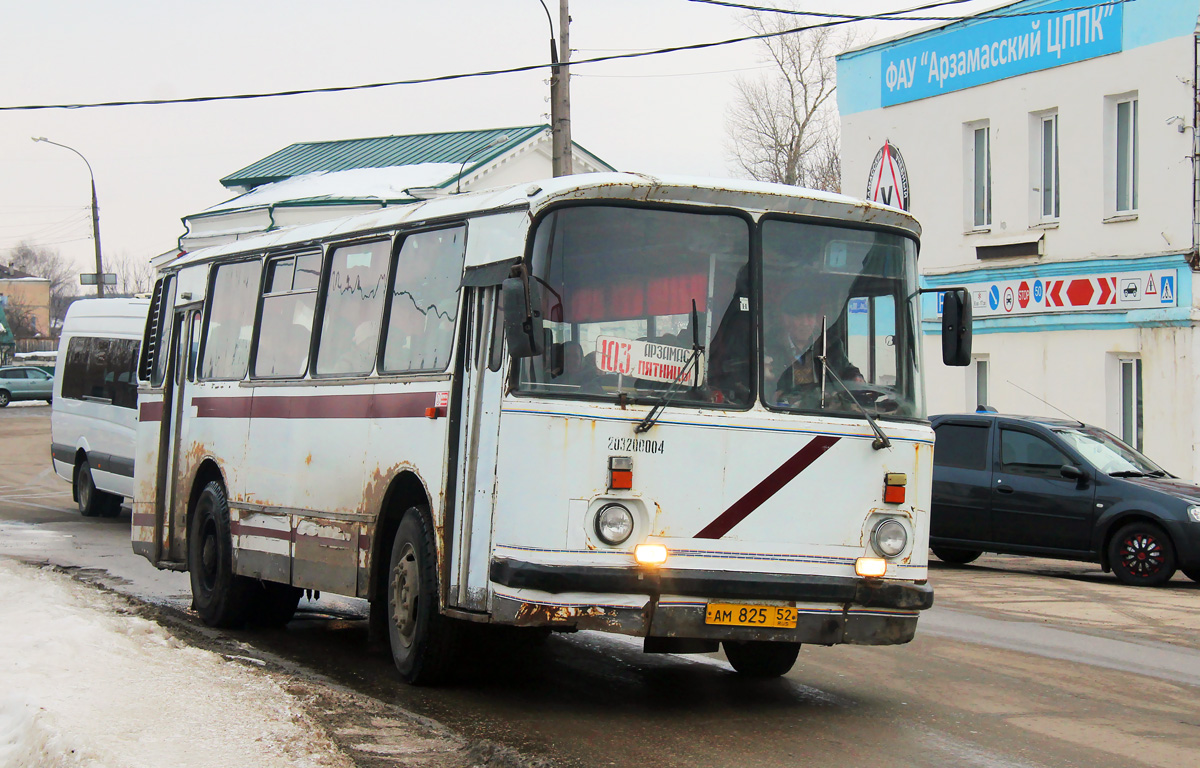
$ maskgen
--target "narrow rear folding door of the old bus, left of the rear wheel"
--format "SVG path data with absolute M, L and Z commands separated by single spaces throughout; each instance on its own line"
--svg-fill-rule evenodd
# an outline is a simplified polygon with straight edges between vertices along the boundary
M 163 382 L 162 432 L 158 446 L 158 482 L 155 499 L 155 536 L 160 559 L 187 560 L 187 488 L 178 476 L 180 446 L 187 424 L 184 404 L 191 401 L 196 382 L 196 355 L 200 338 L 200 307 L 176 308 L 172 320 L 169 370 Z

